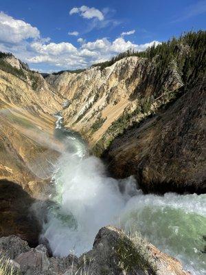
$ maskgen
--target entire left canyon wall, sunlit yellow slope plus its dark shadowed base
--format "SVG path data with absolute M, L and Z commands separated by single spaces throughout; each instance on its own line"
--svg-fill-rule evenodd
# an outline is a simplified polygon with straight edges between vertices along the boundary
M 58 96 L 41 74 L 0 54 L 0 236 L 16 234 L 34 246 L 41 225 L 30 210 L 49 195 L 62 144 L 54 137 Z M 18 186 L 18 185 L 19 186 Z

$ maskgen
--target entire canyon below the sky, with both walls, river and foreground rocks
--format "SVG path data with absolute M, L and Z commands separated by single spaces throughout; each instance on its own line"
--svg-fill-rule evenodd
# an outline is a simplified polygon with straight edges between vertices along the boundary
M 189 32 L 43 76 L 1 53 L 0 252 L 16 274 L 204 274 L 205 44 Z

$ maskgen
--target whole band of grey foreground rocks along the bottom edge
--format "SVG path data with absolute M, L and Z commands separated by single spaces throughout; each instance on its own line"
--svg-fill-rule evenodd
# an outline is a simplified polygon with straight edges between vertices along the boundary
M 93 250 L 80 258 L 49 257 L 47 248 L 30 248 L 17 236 L 0 239 L 0 251 L 10 259 L 10 267 L 23 275 L 189 275 L 181 263 L 161 253 L 140 236 L 129 237 L 108 226 L 100 229 Z

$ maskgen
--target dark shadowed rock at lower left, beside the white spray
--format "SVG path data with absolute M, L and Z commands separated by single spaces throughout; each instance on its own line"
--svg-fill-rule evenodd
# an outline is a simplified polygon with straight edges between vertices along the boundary
M 0 180 L 0 236 L 16 234 L 33 247 L 38 244 L 41 225 L 30 209 L 34 201 L 18 184 Z M 12 241 L 16 243 L 16 237 L 9 239 Z

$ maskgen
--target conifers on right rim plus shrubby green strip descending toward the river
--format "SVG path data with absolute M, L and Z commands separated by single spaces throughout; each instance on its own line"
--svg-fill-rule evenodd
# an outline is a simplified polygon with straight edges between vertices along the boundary
M 175 100 L 181 91 L 190 90 L 203 79 L 206 73 L 206 32 L 186 32 L 179 39 L 174 37 L 168 42 L 153 45 L 144 52 L 129 50 L 112 58 L 111 61 L 97 64 L 97 66 L 104 69 L 128 56 L 139 56 L 147 60 L 144 66 L 145 72 L 142 72 L 141 83 L 130 96 L 130 100 L 137 100 L 137 108 L 134 111 L 125 110 L 111 124 L 102 139 L 93 148 L 97 155 L 101 155 L 111 141 L 129 126 L 138 126 L 142 120 L 155 113 L 159 107 Z M 168 76 L 172 75 L 179 79 L 179 83 L 183 85 L 182 88 L 170 87 Z M 152 109 L 154 104 L 155 109 Z

